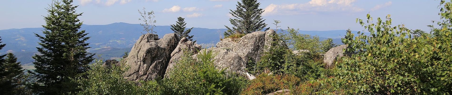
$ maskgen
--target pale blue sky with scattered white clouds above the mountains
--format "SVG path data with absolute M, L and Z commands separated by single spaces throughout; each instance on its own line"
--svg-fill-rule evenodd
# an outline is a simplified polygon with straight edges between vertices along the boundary
M 439 0 L 259 0 L 264 9 L 263 18 L 268 27 L 279 26 L 301 30 L 352 30 L 363 27 L 356 18 L 385 18 L 391 14 L 393 24 L 405 24 L 410 29 L 428 31 L 438 16 Z M 0 29 L 41 27 L 42 16 L 52 0 L 2 0 Z M 188 27 L 224 28 L 230 26 L 229 9 L 235 9 L 237 0 L 74 0 L 83 12 L 80 20 L 88 25 L 110 23 L 141 23 L 138 9 L 146 7 L 155 12 L 156 25 L 174 24 L 176 18 L 186 18 Z

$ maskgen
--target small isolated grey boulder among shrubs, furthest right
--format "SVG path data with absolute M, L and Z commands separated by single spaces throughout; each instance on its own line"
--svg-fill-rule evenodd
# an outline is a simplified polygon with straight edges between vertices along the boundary
M 324 54 L 323 62 L 326 64 L 325 68 L 333 67 L 333 62 L 336 58 L 344 56 L 344 49 L 347 45 L 339 45 L 338 47 L 331 48 Z

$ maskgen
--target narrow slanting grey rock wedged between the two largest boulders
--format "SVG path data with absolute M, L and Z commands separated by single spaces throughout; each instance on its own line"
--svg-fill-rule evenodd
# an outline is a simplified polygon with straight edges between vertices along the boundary
M 173 69 L 174 65 L 182 58 L 184 55 L 184 51 L 193 52 L 194 54 L 198 53 L 198 50 L 201 49 L 201 45 L 194 43 L 193 41 L 189 41 L 187 38 L 182 38 L 179 41 L 179 44 L 175 48 L 175 50 L 171 53 L 171 59 L 168 63 L 168 67 L 166 68 L 166 73 Z

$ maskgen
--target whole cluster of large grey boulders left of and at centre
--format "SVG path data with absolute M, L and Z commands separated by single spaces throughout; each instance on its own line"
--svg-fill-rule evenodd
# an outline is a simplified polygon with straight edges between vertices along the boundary
M 216 54 L 214 63 L 217 68 L 245 74 L 246 63 L 259 61 L 266 50 L 264 46 L 274 41 L 271 36 L 275 34 L 275 31 L 268 30 L 252 32 L 241 38 L 226 38 L 207 51 Z M 202 51 L 202 48 L 186 38 L 179 39 L 174 33 L 166 34 L 161 39 L 156 34 L 144 34 L 132 47 L 129 56 L 121 61 L 131 67 L 125 77 L 129 81 L 164 77 L 183 56 L 184 50 L 193 51 L 196 58 L 197 51 Z

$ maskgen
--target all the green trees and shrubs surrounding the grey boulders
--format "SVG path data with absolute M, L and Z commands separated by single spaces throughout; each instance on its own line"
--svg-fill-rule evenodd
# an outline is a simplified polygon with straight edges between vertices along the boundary
M 104 59 L 88 53 L 90 37 L 79 30 L 82 23 L 73 0 L 55 1 L 44 17 L 46 30 L 39 38 L 34 67 L 24 70 L 14 54 L 0 55 L 0 94 L 3 95 L 265 95 L 284 90 L 289 95 L 450 95 L 452 93 L 452 2 L 440 0 L 439 27 L 430 32 L 392 25 L 390 15 L 377 18 L 370 14 L 356 19 L 370 35 L 350 29 L 342 42 L 344 57 L 333 66 L 323 62 L 323 54 L 337 46 L 331 40 L 299 34 L 288 27 L 272 36 L 275 41 L 257 62 L 246 62 L 246 70 L 257 77 L 217 69 L 215 52 L 184 51 L 168 75 L 149 81 L 127 81 L 125 63 L 102 66 Z M 268 30 L 257 0 L 237 1 L 231 10 L 232 27 L 225 26 L 224 38 L 238 39 L 248 33 Z M 436 6 L 432 6 L 436 7 Z M 154 12 L 138 10 L 143 32 L 155 33 Z M 276 29 L 278 20 L 274 20 Z M 188 38 L 184 18 L 177 18 L 171 30 Z M 1 41 L 1 39 L 0 39 Z M 283 43 L 281 43 L 283 42 Z M 287 45 L 293 46 L 288 48 Z M 5 46 L 0 42 L 0 50 Z M 292 50 L 309 52 L 292 53 Z M 127 57 L 124 54 L 122 59 Z M 94 62 L 94 63 L 93 63 Z M 25 72 L 25 73 L 24 73 Z M 287 92 L 288 91 L 288 92 Z

